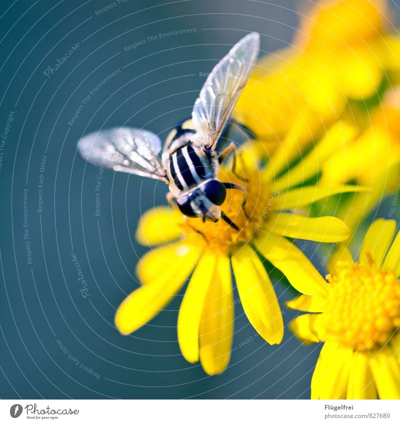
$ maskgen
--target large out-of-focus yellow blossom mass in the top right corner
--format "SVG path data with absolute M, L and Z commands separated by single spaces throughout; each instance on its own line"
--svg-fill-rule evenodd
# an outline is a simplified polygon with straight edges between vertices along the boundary
M 388 33 L 387 13 L 386 1 L 320 1 L 292 46 L 257 63 L 234 116 L 265 143 L 275 173 L 349 114 L 349 100 L 398 81 L 400 37 Z

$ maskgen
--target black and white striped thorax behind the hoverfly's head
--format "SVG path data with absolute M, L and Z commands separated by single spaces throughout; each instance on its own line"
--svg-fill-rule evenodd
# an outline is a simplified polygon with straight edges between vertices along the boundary
M 180 191 L 198 185 L 207 178 L 212 178 L 211 167 L 207 158 L 198 147 L 190 143 L 177 148 L 169 156 L 169 174 Z

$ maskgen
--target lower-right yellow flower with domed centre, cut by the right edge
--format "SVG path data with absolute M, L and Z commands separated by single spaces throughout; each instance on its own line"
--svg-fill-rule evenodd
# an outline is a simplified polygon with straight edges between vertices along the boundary
M 354 262 L 340 246 L 329 284 L 318 295 L 287 303 L 309 312 L 290 328 L 304 343 L 324 342 L 312 380 L 312 399 L 400 399 L 400 233 L 377 219 Z

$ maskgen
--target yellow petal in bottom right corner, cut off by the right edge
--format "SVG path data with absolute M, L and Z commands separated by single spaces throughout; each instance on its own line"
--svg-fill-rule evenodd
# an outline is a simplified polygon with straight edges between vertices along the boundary
M 370 367 L 380 399 L 400 399 L 400 365 L 389 349 L 370 358 Z

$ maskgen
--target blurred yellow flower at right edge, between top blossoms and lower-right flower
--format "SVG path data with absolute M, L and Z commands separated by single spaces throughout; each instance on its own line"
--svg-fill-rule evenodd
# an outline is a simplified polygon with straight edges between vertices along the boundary
M 367 122 L 360 128 L 347 119 L 331 125 L 314 148 L 290 168 L 290 172 L 275 180 L 275 186 L 280 190 L 293 187 L 317 175 L 318 183 L 324 186 L 362 185 L 364 191 L 333 206 L 335 215 L 351 230 L 388 193 L 395 193 L 398 197 L 400 86 L 387 89 L 379 104 L 369 113 Z

